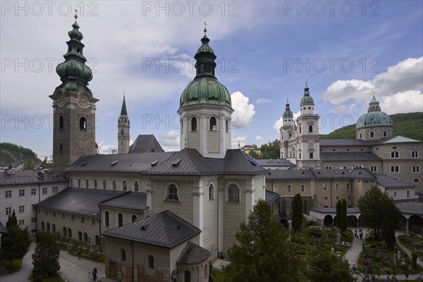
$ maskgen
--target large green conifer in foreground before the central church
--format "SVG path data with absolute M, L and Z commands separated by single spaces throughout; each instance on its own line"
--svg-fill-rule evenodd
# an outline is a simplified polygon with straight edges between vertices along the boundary
M 231 264 L 223 269 L 226 282 L 298 281 L 298 259 L 269 204 L 259 200 L 241 223 L 229 250 Z

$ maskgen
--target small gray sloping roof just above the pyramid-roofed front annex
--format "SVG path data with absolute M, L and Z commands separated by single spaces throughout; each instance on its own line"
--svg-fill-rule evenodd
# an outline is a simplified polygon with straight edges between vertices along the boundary
M 99 203 L 102 207 L 116 207 L 118 209 L 133 209 L 145 211 L 147 207 L 147 194 L 140 192 L 130 192 L 110 200 Z

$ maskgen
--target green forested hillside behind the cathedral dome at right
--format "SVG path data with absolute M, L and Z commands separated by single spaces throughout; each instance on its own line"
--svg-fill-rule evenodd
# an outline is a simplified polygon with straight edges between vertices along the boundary
M 423 141 L 423 113 L 393 114 L 393 135 L 401 135 Z M 329 134 L 320 135 L 320 139 L 355 139 L 355 125 L 338 128 Z

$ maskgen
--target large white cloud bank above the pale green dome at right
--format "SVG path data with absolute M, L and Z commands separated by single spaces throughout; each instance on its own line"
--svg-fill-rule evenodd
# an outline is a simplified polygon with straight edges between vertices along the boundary
M 422 69 L 423 57 L 405 59 L 372 80 L 337 80 L 321 97 L 337 105 L 336 113 L 350 112 L 351 101 L 366 109 L 374 93 L 387 114 L 423 111 Z

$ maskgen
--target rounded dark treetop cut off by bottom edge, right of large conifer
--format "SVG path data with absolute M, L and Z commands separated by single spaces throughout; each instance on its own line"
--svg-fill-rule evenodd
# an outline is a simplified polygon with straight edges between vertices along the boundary
M 345 259 L 336 257 L 330 252 L 319 253 L 309 264 L 307 278 L 312 282 L 353 282 L 350 266 Z

